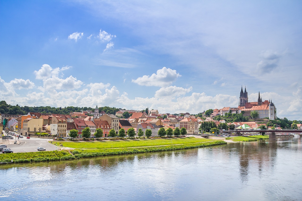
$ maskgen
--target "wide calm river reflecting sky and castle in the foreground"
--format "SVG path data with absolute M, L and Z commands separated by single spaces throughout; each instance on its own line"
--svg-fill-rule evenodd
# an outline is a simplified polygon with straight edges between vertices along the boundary
M 302 200 L 298 137 L 0 166 L 0 200 Z

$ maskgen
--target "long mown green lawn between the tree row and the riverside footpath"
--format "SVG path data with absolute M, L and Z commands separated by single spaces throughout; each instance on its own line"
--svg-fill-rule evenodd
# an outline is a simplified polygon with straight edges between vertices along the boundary
M 197 142 L 208 142 L 213 139 L 204 138 L 171 138 L 171 139 L 135 139 L 135 140 L 103 140 L 90 142 L 62 142 L 64 147 L 78 149 L 94 149 L 94 148 L 128 148 L 128 147 L 145 147 L 158 145 L 176 145 L 176 144 L 191 144 Z

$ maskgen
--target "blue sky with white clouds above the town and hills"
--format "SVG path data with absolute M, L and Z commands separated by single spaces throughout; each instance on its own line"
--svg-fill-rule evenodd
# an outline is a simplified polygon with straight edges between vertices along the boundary
M 301 120 L 300 1 L 2 1 L 0 99 Z

